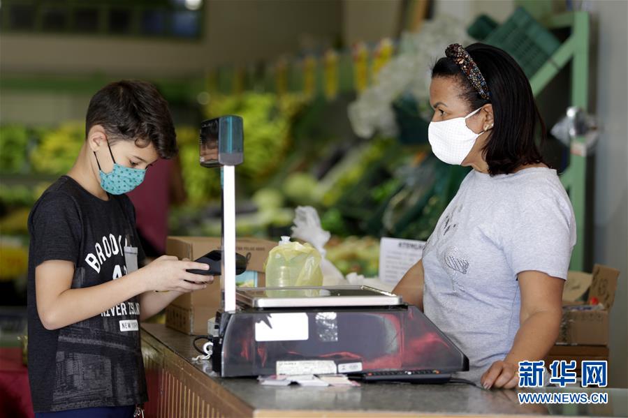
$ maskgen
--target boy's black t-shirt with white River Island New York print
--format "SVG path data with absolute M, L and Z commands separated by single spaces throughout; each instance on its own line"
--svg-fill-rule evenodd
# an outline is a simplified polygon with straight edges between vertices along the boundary
M 138 297 L 50 331 L 41 323 L 35 296 L 35 268 L 47 260 L 74 263 L 72 288 L 126 274 L 124 246 L 140 247 L 129 197 L 101 200 L 64 176 L 35 203 L 28 226 L 28 369 L 35 412 L 147 401 Z

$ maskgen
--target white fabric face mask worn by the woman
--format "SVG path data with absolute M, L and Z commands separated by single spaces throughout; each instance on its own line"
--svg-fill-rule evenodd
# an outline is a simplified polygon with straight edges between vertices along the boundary
M 467 126 L 466 120 L 481 109 L 480 107 L 465 117 L 430 122 L 428 140 L 432 145 L 432 152 L 440 161 L 453 165 L 460 165 L 465 161 L 478 137 L 484 133 L 474 133 Z

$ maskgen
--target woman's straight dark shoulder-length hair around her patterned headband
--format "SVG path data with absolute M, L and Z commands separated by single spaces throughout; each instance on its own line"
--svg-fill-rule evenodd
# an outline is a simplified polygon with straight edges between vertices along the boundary
M 497 47 L 474 43 L 465 50 L 484 76 L 490 100 L 481 98 L 451 58 L 439 59 L 432 68 L 432 77 L 456 77 L 461 87 L 460 98 L 469 105 L 469 112 L 492 104 L 495 121 L 482 150 L 488 172 L 491 175 L 509 174 L 521 165 L 545 163 L 535 141 L 537 121 L 541 143 L 547 139 L 547 130 L 523 70 L 509 54 Z

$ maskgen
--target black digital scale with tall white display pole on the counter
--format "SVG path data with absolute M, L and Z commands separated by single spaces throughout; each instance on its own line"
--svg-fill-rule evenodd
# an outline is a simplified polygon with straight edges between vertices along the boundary
M 243 151 L 242 118 L 203 122 L 200 163 L 221 167 L 223 191 L 224 308 L 207 330 L 216 373 L 358 373 L 377 380 L 401 371 L 433 381 L 469 369 L 465 354 L 395 294 L 367 286 L 236 290 L 234 169 Z

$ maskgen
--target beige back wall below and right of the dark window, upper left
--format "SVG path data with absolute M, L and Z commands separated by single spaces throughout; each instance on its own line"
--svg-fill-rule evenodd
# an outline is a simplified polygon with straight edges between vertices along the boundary
M 220 64 L 293 54 L 304 43 L 331 45 L 341 17 L 338 0 L 207 1 L 198 41 L 3 33 L 0 71 L 187 77 Z

